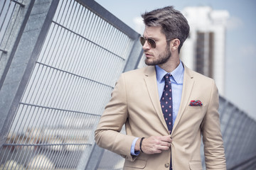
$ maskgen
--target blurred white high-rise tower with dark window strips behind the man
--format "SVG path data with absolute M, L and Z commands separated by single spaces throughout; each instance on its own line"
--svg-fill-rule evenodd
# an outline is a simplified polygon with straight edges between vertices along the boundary
M 191 27 L 181 48 L 181 59 L 191 69 L 215 79 L 225 96 L 225 26 L 228 11 L 209 6 L 186 7 L 182 11 Z

